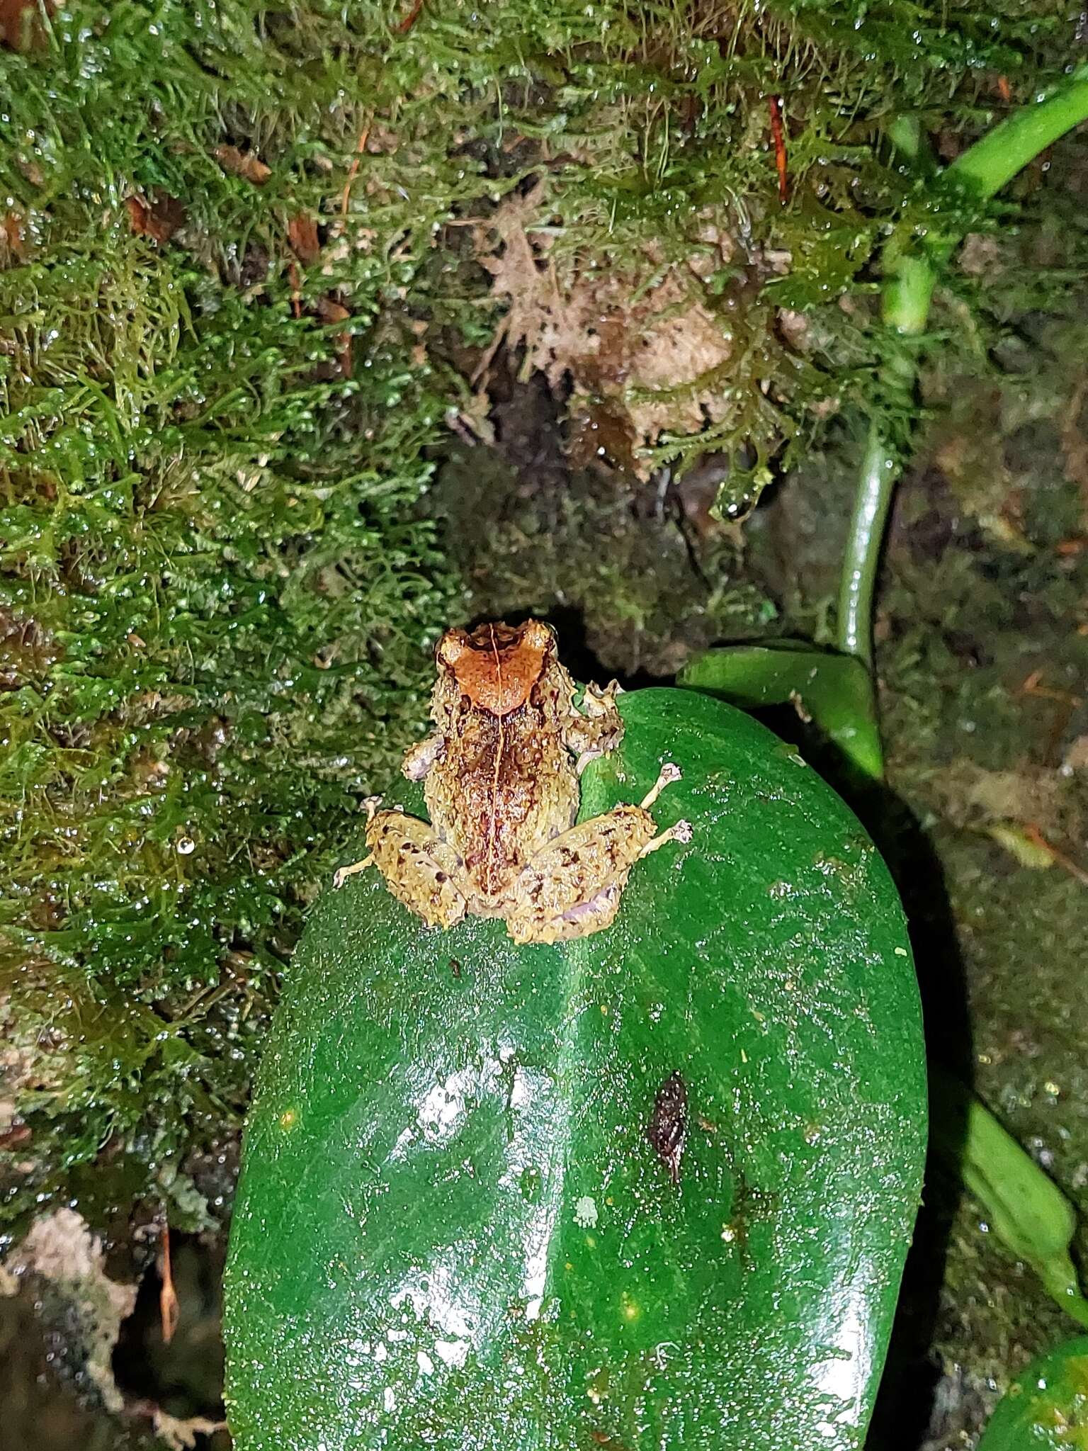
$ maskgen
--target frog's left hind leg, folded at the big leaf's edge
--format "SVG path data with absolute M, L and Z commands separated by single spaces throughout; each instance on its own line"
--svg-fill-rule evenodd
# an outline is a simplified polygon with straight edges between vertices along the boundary
M 397 901 L 422 917 L 428 927 L 453 927 L 464 917 L 464 897 L 454 885 L 461 872 L 457 852 L 434 827 L 405 811 L 370 810 L 367 846 L 361 862 L 341 866 L 332 878 L 342 887 L 348 876 L 377 866 Z

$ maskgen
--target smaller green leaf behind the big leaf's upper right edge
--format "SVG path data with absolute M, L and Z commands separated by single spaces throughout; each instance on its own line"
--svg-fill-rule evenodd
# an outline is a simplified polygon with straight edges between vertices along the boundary
M 807 640 L 737 644 L 693 656 L 679 683 L 746 710 L 794 702 L 811 717 L 863 781 L 881 781 L 883 753 L 876 696 L 863 660 Z

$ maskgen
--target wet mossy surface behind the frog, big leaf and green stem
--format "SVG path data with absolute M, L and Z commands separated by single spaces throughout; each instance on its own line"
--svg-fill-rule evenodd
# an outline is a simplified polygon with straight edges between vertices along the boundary
M 0 7 L 6 1233 L 61 1201 L 222 1223 L 200 1165 L 451 618 L 545 609 L 635 679 L 820 636 L 881 403 L 876 257 L 924 206 L 888 128 L 949 160 L 1076 54 L 1056 0 L 955 20 Z M 879 654 L 981 1085 L 1081 1199 L 1087 176 L 1076 136 L 1029 168 L 939 297 Z M 711 514 L 772 479 L 747 535 Z M 1010 856 L 1010 821 L 1059 856 Z M 992 1329 L 963 1325 L 959 1367 Z

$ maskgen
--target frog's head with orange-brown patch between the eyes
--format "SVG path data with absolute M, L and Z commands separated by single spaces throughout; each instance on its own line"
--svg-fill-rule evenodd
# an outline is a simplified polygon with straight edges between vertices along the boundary
M 543 620 L 447 630 L 438 641 L 438 678 L 453 678 L 461 695 L 492 715 L 509 715 L 556 659 L 556 631 Z

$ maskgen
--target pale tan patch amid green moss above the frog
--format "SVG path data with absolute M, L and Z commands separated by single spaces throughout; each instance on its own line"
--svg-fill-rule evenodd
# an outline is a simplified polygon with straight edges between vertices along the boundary
M 547 234 L 531 229 L 543 215 L 541 184 L 476 229 L 477 260 L 508 305 L 477 379 L 502 344 L 522 350 L 524 376 L 540 370 L 553 387 L 569 377 L 572 412 L 579 399 L 603 400 L 635 450 L 724 418 L 731 347 L 695 271 L 647 250 L 630 270 L 572 266 L 560 274 Z M 644 460 L 630 461 L 648 476 Z

